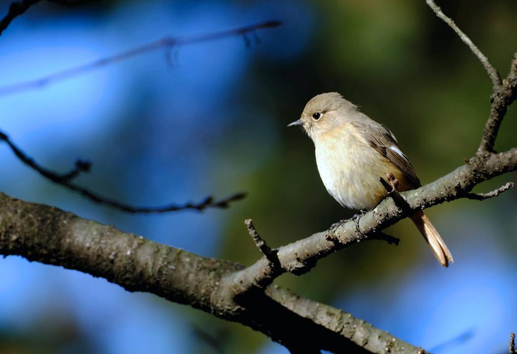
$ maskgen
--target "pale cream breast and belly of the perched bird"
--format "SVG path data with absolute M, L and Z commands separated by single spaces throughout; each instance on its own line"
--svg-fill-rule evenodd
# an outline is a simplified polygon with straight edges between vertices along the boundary
M 369 210 L 386 196 L 379 178 L 391 164 L 353 131 L 345 127 L 325 133 L 314 145 L 323 184 L 342 206 Z

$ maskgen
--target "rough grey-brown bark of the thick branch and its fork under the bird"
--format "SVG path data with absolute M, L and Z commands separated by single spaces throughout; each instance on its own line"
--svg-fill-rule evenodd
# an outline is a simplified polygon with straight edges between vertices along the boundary
M 468 196 L 479 182 L 517 169 L 517 149 L 473 158 L 439 180 L 403 194 L 413 211 Z M 402 219 L 405 212 L 384 200 L 360 220 L 319 232 L 276 250 L 280 268 L 266 256 L 251 267 L 151 242 L 58 208 L 0 194 L 0 254 L 63 266 L 102 277 L 128 291 L 174 302 L 261 331 L 292 352 L 357 350 L 414 353 L 420 348 L 376 329 L 351 314 L 267 283 L 285 271 L 303 273 L 323 256 Z M 369 236 L 370 235 L 370 236 Z M 384 236 L 381 238 L 385 238 Z M 263 277 L 264 274 L 273 277 Z M 262 283 L 264 282 L 264 283 Z M 261 286 L 256 286 L 261 283 Z M 315 341 L 317 339 L 317 341 Z

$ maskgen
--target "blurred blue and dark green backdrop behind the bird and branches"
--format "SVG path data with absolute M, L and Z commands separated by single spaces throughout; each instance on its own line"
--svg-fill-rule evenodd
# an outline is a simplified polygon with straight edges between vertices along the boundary
M 0 14 L 10 1 L 1 1 Z M 501 75 L 517 50 L 517 2 L 442 2 Z M 0 97 L 0 128 L 42 165 L 134 205 L 248 192 L 229 210 L 130 215 L 44 180 L 5 144 L 0 190 L 189 251 L 246 265 L 261 255 L 243 220 L 281 246 L 353 212 L 330 197 L 298 128 L 315 94 L 338 91 L 389 126 L 423 184 L 472 156 L 488 118 L 480 62 L 422 1 L 41 2 L 0 37 L 0 86 L 38 78 L 165 35 L 280 20 L 241 37 L 150 52 Z M 515 146 L 517 108 L 496 149 Z M 517 175 L 483 183 L 488 191 Z M 428 210 L 455 264 L 439 267 L 410 221 L 398 247 L 358 244 L 277 283 L 436 353 L 507 352 L 517 331 L 517 194 Z M 0 259 L 1 353 L 285 353 L 261 333 L 77 271 Z

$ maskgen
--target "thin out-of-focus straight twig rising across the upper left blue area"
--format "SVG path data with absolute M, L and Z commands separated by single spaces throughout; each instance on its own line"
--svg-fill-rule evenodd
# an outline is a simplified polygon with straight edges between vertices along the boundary
M 167 53 L 169 53 L 170 50 L 172 50 L 174 47 L 177 48 L 179 46 L 195 44 L 195 43 L 210 42 L 210 41 L 215 41 L 218 39 L 235 37 L 235 36 L 242 36 L 242 38 L 244 38 L 244 40 L 245 40 L 246 45 L 249 46 L 251 44 L 250 39 L 248 37 L 249 35 L 253 36 L 255 42 L 258 43 L 258 36 L 256 35 L 256 32 L 258 30 L 275 28 L 275 27 L 280 26 L 280 24 L 281 24 L 280 21 L 265 21 L 265 22 L 260 22 L 260 23 L 244 26 L 244 27 L 237 27 L 234 29 L 207 33 L 207 34 L 202 34 L 202 35 L 191 35 L 191 36 L 183 36 L 183 37 L 167 36 L 167 37 L 161 38 L 159 40 L 149 42 L 149 43 L 140 45 L 138 47 L 134 47 L 133 49 L 86 63 L 85 65 L 80 65 L 80 66 L 73 67 L 70 69 L 58 71 L 53 74 L 43 76 L 43 77 L 35 79 L 35 80 L 29 80 L 29 81 L 25 81 L 25 82 L 21 82 L 21 83 L 1 86 L 0 95 L 7 95 L 7 94 L 12 94 L 12 93 L 17 93 L 20 91 L 29 90 L 29 89 L 41 88 L 43 86 L 47 86 L 47 85 L 53 84 L 58 81 L 62 81 L 64 79 L 83 74 L 90 70 L 99 69 L 101 67 L 111 65 L 118 61 L 123 61 L 123 60 L 129 59 L 129 58 L 132 58 L 132 57 L 135 57 L 138 55 L 142 55 L 144 53 L 148 53 L 151 51 L 155 51 L 158 49 L 165 49 L 168 51 Z

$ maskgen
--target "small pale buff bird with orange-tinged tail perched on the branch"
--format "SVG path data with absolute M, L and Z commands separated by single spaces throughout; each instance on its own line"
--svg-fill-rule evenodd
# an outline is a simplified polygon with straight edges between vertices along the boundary
M 398 191 L 421 186 L 393 133 L 338 92 L 314 96 L 300 119 L 288 124 L 296 125 L 301 125 L 314 142 L 316 165 L 323 184 L 343 207 L 358 210 L 361 215 L 374 208 L 388 195 L 379 180 L 388 173 L 399 181 Z M 359 218 L 359 214 L 356 217 Z M 444 267 L 454 262 L 429 218 L 422 211 L 410 218 L 438 262 Z

